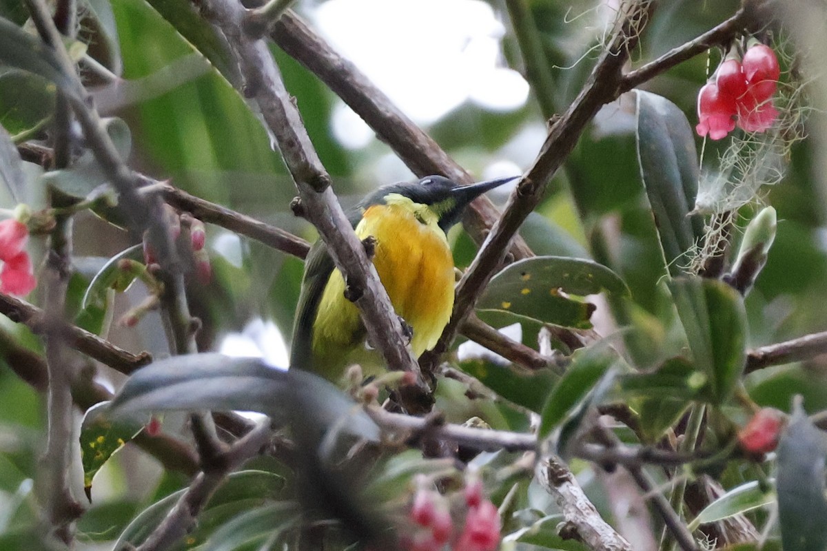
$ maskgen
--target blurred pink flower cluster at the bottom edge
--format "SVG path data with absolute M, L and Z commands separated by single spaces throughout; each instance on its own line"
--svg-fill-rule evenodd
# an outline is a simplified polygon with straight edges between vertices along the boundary
M 482 482 L 469 477 L 464 492 L 466 518 L 456 534 L 448 500 L 435 490 L 421 485 L 414 495 L 409 519 L 420 528 L 403 540 L 407 551 L 494 551 L 500 544 L 500 511 L 483 496 Z

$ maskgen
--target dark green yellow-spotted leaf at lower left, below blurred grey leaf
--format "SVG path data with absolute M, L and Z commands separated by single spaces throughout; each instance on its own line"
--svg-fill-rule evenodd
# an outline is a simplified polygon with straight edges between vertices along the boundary
M 111 402 L 90 407 L 80 424 L 80 460 L 84 467 L 84 490 L 92 501 L 92 481 L 112 454 L 143 430 L 148 419 L 109 415 Z

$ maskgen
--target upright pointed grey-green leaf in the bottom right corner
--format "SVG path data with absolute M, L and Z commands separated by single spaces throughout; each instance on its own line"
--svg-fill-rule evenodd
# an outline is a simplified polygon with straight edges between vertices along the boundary
M 796 401 L 790 425 L 778 442 L 778 515 L 785 551 L 827 549 L 825 434 Z

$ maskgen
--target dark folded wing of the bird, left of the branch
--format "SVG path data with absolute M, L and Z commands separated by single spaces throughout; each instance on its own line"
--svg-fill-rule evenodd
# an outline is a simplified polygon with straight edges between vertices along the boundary
M 304 261 L 302 292 L 299 294 L 299 305 L 296 307 L 293 343 L 290 348 L 291 368 L 312 370 L 313 322 L 316 321 L 318 303 L 322 299 L 327 279 L 335 267 L 324 241 L 316 241 Z

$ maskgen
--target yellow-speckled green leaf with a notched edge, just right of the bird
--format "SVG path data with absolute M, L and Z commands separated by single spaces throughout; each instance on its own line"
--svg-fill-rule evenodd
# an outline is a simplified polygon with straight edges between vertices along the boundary
M 497 273 L 477 309 L 508 311 L 545 323 L 588 329 L 595 306 L 563 297 L 560 290 L 590 295 L 602 289 L 629 292 L 614 272 L 592 260 L 538 256 L 515 262 Z

